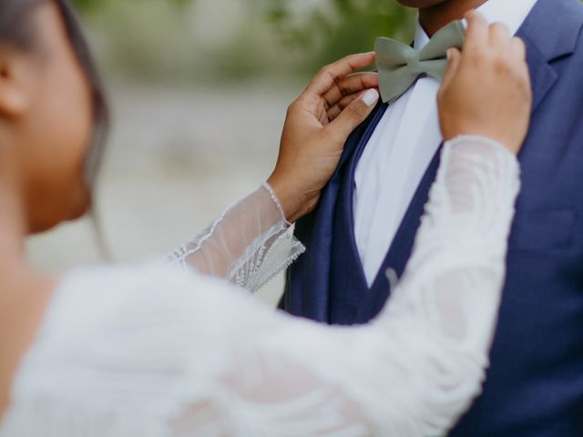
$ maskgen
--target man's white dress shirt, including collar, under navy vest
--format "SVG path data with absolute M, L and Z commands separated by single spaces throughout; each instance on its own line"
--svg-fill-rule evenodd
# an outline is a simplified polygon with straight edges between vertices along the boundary
M 515 34 L 536 0 L 489 0 L 478 10 Z M 417 21 L 414 48 L 429 38 Z M 424 172 L 443 138 L 436 96 L 439 82 L 421 77 L 387 108 L 356 167 L 354 238 L 364 276 L 373 284 Z

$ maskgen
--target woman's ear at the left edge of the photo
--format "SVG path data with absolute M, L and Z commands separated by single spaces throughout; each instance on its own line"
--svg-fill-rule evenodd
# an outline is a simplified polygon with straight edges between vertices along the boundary
M 22 116 L 30 102 L 29 60 L 17 50 L 0 43 L 0 117 Z

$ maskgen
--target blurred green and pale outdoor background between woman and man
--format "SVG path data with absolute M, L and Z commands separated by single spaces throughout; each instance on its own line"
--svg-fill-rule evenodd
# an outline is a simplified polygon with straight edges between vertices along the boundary
M 113 113 L 97 189 L 115 261 L 163 257 L 271 172 L 287 106 L 323 65 L 411 39 L 394 0 L 76 0 Z M 89 220 L 29 239 L 46 270 L 103 260 Z M 270 303 L 282 279 L 261 293 Z

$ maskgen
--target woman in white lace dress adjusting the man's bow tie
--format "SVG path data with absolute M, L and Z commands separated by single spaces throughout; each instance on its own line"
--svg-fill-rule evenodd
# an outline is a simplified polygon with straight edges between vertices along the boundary
M 376 75 L 353 74 L 373 54 L 322 69 L 289 109 L 268 183 L 169 260 L 46 277 L 23 241 L 89 207 L 105 102 L 66 2 L 3 0 L 0 435 L 444 434 L 485 377 L 530 109 L 524 46 L 467 21 L 413 258 L 382 314 L 347 329 L 242 290 L 301 255 L 290 225 L 377 102 Z

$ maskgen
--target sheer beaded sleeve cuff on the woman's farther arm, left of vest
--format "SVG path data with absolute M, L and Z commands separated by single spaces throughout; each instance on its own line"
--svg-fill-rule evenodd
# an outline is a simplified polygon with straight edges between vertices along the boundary
M 169 261 L 254 292 L 305 250 L 290 226 L 275 193 L 264 183 L 175 250 Z

